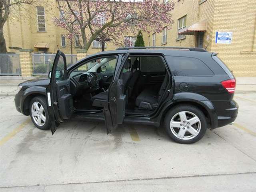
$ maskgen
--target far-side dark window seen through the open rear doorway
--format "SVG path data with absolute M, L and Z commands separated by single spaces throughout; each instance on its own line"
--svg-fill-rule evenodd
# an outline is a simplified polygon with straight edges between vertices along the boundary
M 165 72 L 165 66 L 160 57 L 140 57 L 141 72 Z

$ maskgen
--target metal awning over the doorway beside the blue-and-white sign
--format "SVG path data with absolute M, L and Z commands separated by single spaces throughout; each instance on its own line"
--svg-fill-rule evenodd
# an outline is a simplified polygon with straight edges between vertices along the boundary
M 207 20 L 202 20 L 189 27 L 180 29 L 178 34 L 180 35 L 194 35 L 195 32 L 205 32 L 207 29 Z

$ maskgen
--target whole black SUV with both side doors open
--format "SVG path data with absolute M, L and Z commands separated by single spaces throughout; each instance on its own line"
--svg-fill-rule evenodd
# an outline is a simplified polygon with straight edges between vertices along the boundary
M 194 143 L 238 113 L 236 80 L 216 55 L 202 48 L 118 48 L 67 67 L 58 51 L 48 78 L 18 85 L 16 109 L 52 134 L 80 116 L 105 121 L 107 133 L 122 123 L 162 123 L 174 141 Z

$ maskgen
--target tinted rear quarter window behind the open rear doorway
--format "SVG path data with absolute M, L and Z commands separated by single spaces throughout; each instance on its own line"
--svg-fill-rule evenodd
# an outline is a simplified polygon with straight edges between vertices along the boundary
M 212 76 L 214 73 L 204 62 L 192 57 L 167 56 L 173 76 Z

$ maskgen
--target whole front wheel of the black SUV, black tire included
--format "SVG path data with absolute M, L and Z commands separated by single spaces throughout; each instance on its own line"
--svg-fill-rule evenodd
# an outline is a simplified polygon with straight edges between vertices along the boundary
M 38 106 L 38 108 L 36 107 Z M 39 109 L 39 110 L 38 110 Z M 48 130 L 51 122 L 47 110 L 46 99 L 43 96 L 32 98 L 29 105 L 30 117 L 34 125 L 41 130 Z

